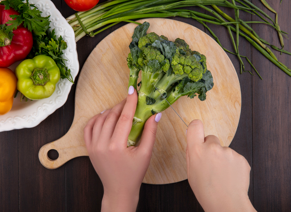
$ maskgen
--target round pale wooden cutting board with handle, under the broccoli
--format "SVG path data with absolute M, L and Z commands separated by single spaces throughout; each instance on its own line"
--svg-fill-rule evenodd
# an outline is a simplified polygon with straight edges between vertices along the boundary
M 184 39 L 192 50 L 205 54 L 207 68 L 214 87 L 205 101 L 180 98 L 173 108 L 186 123 L 200 119 L 205 136 L 216 135 L 222 146 L 232 141 L 241 111 L 241 91 L 237 73 L 223 49 L 203 31 L 189 24 L 163 18 L 139 20 L 150 23 L 149 32 L 164 35 L 169 40 Z M 75 98 L 75 116 L 67 134 L 42 146 L 39 159 L 42 165 L 55 169 L 78 156 L 88 156 L 83 138 L 87 121 L 104 109 L 112 108 L 127 96 L 129 70 L 126 57 L 136 24 L 129 23 L 104 38 L 92 51 L 81 70 Z M 186 126 L 168 108 L 162 112 L 150 166 L 143 183 L 165 184 L 187 179 Z M 56 149 L 59 157 L 50 160 L 47 152 Z

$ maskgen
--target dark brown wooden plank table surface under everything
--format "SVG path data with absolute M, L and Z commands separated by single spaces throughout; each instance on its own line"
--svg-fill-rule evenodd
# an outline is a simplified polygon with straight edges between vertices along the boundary
M 74 13 L 63 0 L 53 2 L 64 17 Z M 268 2 L 279 13 L 281 29 L 290 33 L 290 1 L 283 0 L 281 6 L 280 0 Z M 263 8 L 260 0 L 253 0 L 253 3 Z M 275 18 L 274 14 L 265 11 Z M 258 19 L 249 13 L 241 13 L 240 17 L 249 21 Z M 173 19 L 192 24 L 209 34 L 192 19 Z M 93 48 L 123 24 L 77 42 L 80 70 Z M 226 29 L 209 26 L 223 46 L 233 50 Z M 278 35 L 271 27 L 253 24 L 253 29 L 265 40 L 279 46 Z M 285 49 L 290 51 L 291 40 L 284 40 Z M 249 73 L 238 74 L 242 111 L 230 147 L 242 154 L 251 166 L 249 198 L 255 209 L 291 211 L 291 77 L 244 39 L 240 40 L 240 54 L 252 60 L 263 80 Z M 291 67 L 290 55 L 275 54 L 279 61 Z M 237 58 L 229 57 L 239 73 Z M 245 64 L 246 69 L 251 70 L 250 65 Z M 77 80 L 78 77 L 75 82 Z M 65 105 L 38 126 L 0 133 L 0 211 L 100 211 L 103 186 L 88 157 L 75 158 L 54 170 L 46 169 L 38 160 L 41 146 L 62 137 L 69 130 L 74 118 L 75 89 L 76 84 L 72 86 Z M 142 184 L 137 211 L 203 209 L 185 180 L 167 185 Z

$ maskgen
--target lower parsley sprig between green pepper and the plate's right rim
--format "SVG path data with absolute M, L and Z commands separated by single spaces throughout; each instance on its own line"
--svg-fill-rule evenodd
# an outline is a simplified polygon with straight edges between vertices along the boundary
M 61 72 L 62 79 L 67 78 L 74 84 L 74 80 L 71 75 L 71 70 L 65 65 L 66 59 L 63 58 L 63 50 L 67 48 L 67 43 L 63 40 L 62 36 L 56 38 L 54 29 L 50 32 L 47 31 L 44 36 L 38 36 L 33 42 L 32 50 L 29 54 L 29 58 L 33 58 L 37 55 L 50 56 L 56 62 Z

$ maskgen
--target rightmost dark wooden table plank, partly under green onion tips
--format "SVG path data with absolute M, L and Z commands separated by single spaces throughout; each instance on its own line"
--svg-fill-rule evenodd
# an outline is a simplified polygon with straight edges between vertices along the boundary
M 290 1 L 268 1 L 279 13 L 283 31 L 290 33 Z M 253 3 L 261 5 L 259 0 Z M 264 10 L 269 14 L 268 10 Z M 272 14 L 272 13 L 270 13 Z M 271 17 L 275 18 L 274 13 Z M 253 20 L 257 20 L 256 17 Z M 284 23 L 284 24 L 283 24 Z M 263 38 L 279 46 L 278 34 L 265 25 L 253 24 Z M 289 34 L 290 35 L 290 34 Z M 291 41 L 284 39 L 286 50 Z M 291 67 L 290 55 L 274 51 L 279 61 Z M 254 207 L 258 211 L 289 212 L 291 208 L 291 77 L 253 50 L 254 66 L 260 66 L 263 80 L 253 78 L 253 181 Z M 261 62 L 263 61 L 263 62 Z

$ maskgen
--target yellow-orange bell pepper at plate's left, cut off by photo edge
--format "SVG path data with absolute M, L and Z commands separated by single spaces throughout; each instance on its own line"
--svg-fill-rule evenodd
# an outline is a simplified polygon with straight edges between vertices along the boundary
M 8 113 L 13 104 L 17 78 L 9 68 L 0 68 L 0 116 Z

